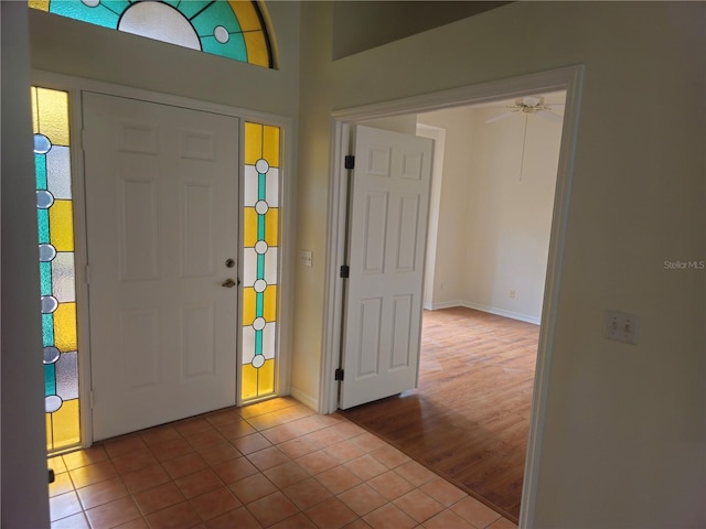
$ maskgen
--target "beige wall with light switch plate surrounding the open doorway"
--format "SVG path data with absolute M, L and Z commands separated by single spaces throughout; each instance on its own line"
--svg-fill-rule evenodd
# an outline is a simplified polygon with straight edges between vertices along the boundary
M 703 527 L 706 4 L 515 2 L 331 61 L 302 7 L 299 247 L 327 241 L 330 112 L 568 64 L 586 75 L 534 527 Z M 318 396 L 324 262 L 297 271 L 293 384 Z M 601 337 L 640 317 L 638 345 Z

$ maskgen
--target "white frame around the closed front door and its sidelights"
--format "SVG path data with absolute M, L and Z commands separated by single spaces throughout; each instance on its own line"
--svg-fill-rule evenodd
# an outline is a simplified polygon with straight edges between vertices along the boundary
M 132 88 L 115 85 L 83 77 L 56 74 L 46 71 L 32 71 L 31 83 L 33 86 L 42 86 L 68 93 L 68 121 L 71 128 L 71 175 L 72 197 L 74 202 L 74 270 L 76 283 L 76 325 L 78 339 L 78 397 L 81 402 L 81 445 L 88 447 L 93 444 L 93 417 L 92 417 L 92 379 L 90 379 L 90 312 L 88 299 L 88 269 L 87 269 L 87 239 L 86 239 L 86 197 L 85 197 L 85 168 L 83 161 L 83 106 L 84 91 L 138 99 L 141 101 L 170 105 L 191 110 L 210 114 L 220 114 L 238 118 L 238 199 L 239 199 L 239 228 L 238 248 L 243 248 L 243 197 L 244 197 L 244 127 L 245 121 L 252 120 L 258 123 L 271 125 L 280 128 L 280 244 L 278 250 L 279 284 L 277 293 L 278 321 L 277 321 L 277 348 L 278 363 L 275 373 L 275 391 L 278 396 L 290 393 L 290 358 L 291 358 L 291 319 L 281 317 L 282 314 L 291 314 L 293 301 L 293 248 L 295 248 L 295 182 L 293 166 L 296 163 L 295 137 L 292 131 L 293 120 L 285 116 L 248 110 L 246 108 L 231 107 L 216 102 L 192 99 L 188 97 L 157 93 L 141 88 Z M 243 256 L 238 256 L 238 278 L 243 278 Z M 240 396 L 240 366 L 243 325 L 243 290 L 238 289 L 237 306 L 237 353 L 236 353 L 236 395 L 234 404 L 242 406 Z

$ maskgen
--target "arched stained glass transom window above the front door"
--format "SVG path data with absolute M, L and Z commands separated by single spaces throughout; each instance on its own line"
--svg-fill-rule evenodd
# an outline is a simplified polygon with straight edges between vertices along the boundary
M 41 11 L 274 68 L 263 8 L 245 0 L 29 0 Z

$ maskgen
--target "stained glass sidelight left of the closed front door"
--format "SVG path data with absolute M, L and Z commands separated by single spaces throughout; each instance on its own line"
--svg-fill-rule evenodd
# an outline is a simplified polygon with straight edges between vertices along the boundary
M 68 94 L 32 87 L 46 446 L 81 442 Z

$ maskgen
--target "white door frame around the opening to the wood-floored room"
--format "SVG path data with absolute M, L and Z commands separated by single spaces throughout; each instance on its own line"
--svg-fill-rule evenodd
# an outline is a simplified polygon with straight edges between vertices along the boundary
M 546 393 L 554 350 L 554 336 L 561 285 L 561 263 L 566 223 L 568 217 L 574 159 L 578 132 L 584 65 L 565 66 L 556 69 L 512 77 L 506 79 L 469 85 L 461 88 L 413 96 L 381 104 L 347 108 L 331 114 L 331 169 L 329 181 L 329 215 L 327 240 L 327 270 L 324 284 L 324 316 L 322 333 L 322 363 L 319 387 L 319 412 L 332 413 L 338 409 L 338 381 L 335 369 L 341 358 L 343 333 L 343 281 L 339 269 L 345 264 L 347 187 L 345 182 L 344 156 L 349 154 L 352 127 L 364 120 L 422 114 L 454 107 L 479 105 L 502 99 L 545 91 L 566 91 L 566 107 L 559 163 L 552 216 L 549 252 L 543 301 L 543 317 L 539 328 L 537 365 L 535 370 L 525 478 L 522 490 L 520 527 L 534 517 L 536 501 L 537 469 L 544 431 Z

